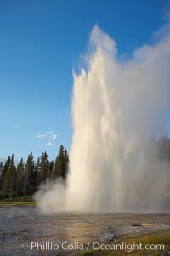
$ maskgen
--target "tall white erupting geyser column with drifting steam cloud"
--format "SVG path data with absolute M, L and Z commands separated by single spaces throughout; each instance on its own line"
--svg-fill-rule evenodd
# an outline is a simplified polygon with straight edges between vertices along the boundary
M 170 172 L 151 138 L 165 132 L 170 37 L 116 56 L 116 43 L 95 26 L 88 70 L 75 74 L 70 175 L 37 193 L 42 211 L 160 211 L 169 207 Z

